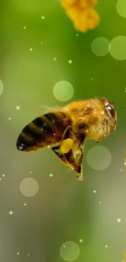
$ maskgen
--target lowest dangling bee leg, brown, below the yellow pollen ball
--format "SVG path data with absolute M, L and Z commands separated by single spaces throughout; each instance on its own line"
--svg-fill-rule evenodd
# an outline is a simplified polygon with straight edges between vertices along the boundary
M 68 153 L 64 154 L 68 166 L 72 167 L 73 170 L 77 173 L 77 180 L 83 180 L 82 165 L 77 163 L 76 156 L 73 153 L 73 150 L 70 149 Z

